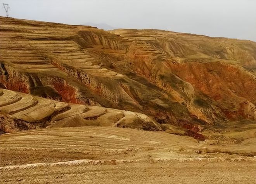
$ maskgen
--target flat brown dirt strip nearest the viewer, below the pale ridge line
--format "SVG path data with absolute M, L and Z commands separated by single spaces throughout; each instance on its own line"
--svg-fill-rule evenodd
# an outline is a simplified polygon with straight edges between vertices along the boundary
M 255 183 L 255 162 L 141 162 L 2 171 L 1 183 Z

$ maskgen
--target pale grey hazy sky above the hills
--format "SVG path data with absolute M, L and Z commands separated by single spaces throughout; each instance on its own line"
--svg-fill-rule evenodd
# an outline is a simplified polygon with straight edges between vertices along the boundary
M 256 0 L 0 0 L 10 17 L 93 22 L 256 41 Z

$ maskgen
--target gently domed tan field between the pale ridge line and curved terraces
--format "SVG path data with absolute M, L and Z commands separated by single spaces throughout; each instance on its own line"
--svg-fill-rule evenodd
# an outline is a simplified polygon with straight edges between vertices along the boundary
M 256 153 L 253 147 L 255 137 L 223 147 L 207 142 L 198 143 L 186 136 L 113 127 L 29 130 L 1 135 L 0 143 L 3 158 L 0 169 L 9 165 L 83 159 L 125 160 L 124 163 L 150 160 L 239 161 L 253 160 L 251 156 Z

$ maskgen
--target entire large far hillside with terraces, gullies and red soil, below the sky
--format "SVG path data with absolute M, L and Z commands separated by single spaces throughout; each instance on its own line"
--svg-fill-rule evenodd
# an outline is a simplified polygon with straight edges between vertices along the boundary
M 0 17 L 0 83 L 162 124 L 256 119 L 256 43 Z

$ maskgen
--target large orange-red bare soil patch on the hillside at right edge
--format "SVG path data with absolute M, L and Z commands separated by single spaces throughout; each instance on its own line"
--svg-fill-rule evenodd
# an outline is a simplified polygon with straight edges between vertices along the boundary
M 173 73 L 195 89 L 223 104 L 220 108 L 228 119 L 255 119 L 255 78 L 240 66 L 221 62 L 187 62 L 169 66 Z

